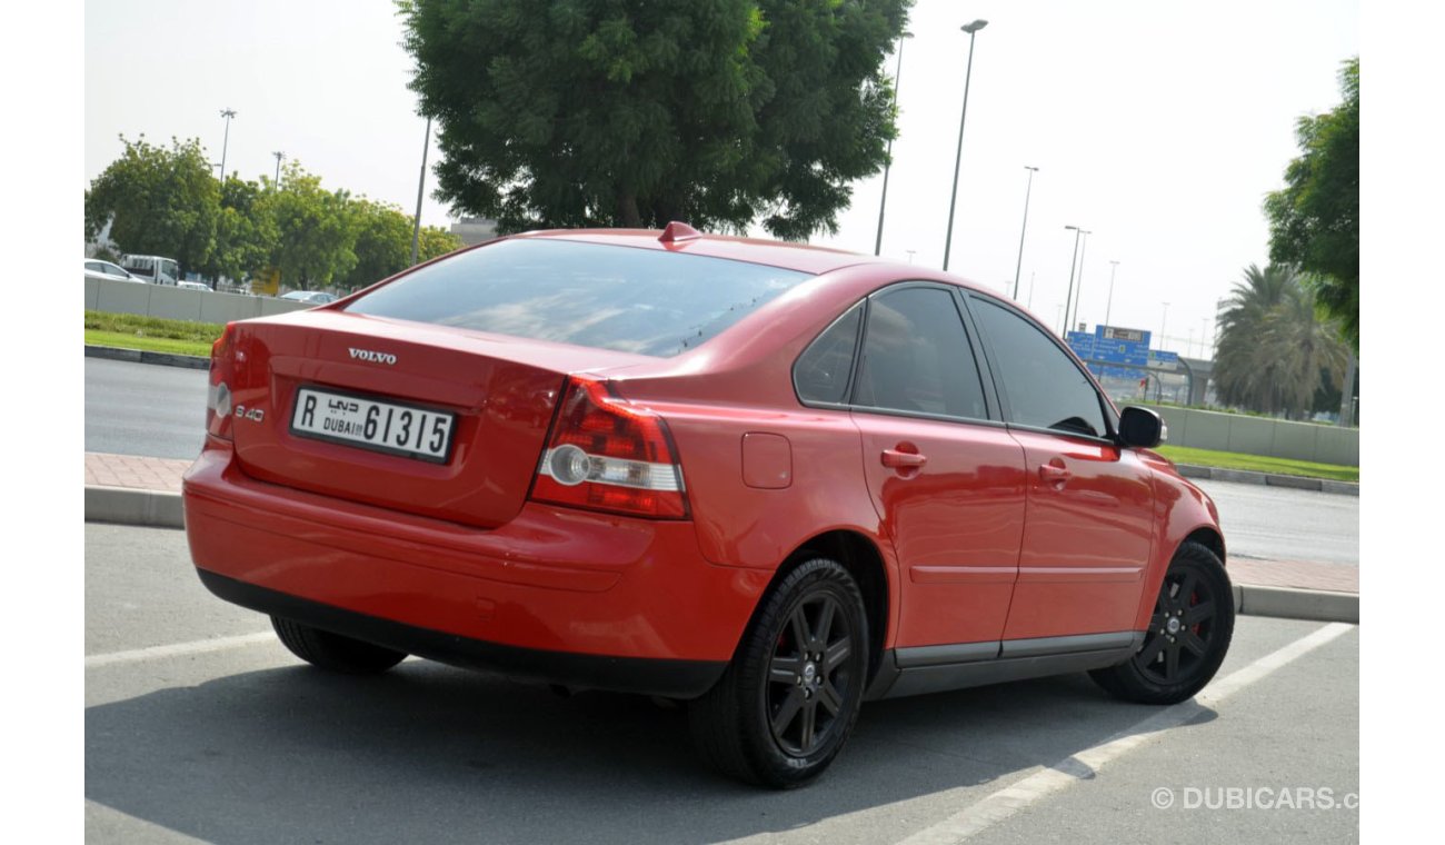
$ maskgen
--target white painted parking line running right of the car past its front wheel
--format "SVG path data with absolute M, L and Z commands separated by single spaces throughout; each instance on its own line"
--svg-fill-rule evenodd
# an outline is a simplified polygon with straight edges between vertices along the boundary
M 970 807 L 948 816 L 942 822 L 931 828 L 923 828 L 907 839 L 903 839 L 900 845 L 952 845 L 954 842 L 962 842 L 981 833 L 1051 793 L 1092 776 L 1092 773 L 1103 768 L 1107 763 L 1129 754 L 1162 731 L 1176 728 L 1205 708 L 1220 705 L 1235 692 L 1269 676 L 1276 669 L 1303 657 L 1325 643 L 1338 638 L 1354 627 L 1344 623 L 1331 623 L 1322 628 L 1316 628 L 1283 649 L 1266 654 L 1254 663 L 1231 673 L 1228 677 L 1209 683 L 1194 699 L 1165 708 L 1092 748 L 1085 748 L 1014 784 L 1000 789 Z

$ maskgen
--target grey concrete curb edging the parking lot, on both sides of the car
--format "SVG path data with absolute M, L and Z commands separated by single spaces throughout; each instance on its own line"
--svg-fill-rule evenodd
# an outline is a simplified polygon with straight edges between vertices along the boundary
M 85 485 L 85 521 L 184 529 L 179 493 Z M 1234 608 L 1253 617 L 1360 624 L 1360 597 L 1328 589 L 1234 585 Z

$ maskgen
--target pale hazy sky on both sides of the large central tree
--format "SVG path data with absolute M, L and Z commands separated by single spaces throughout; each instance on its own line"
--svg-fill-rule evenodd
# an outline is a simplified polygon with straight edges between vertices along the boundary
M 1267 261 L 1260 202 L 1298 152 L 1295 120 L 1340 100 L 1341 62 L 1360 51 L 1357 3 L 920 0 L 886 256 L 942 263 L 968 49 L 958 27 L 977 17 L 988 26 L 975 42 L 951 270 L 1012 287 L 1023 166 L 1038 166 L 1020 300 L 1058 324 L 1074 248 L 1064 227 L 1079 225 L 1094 233 L 1079 321 L 1103 322 L 1108 306 L 1113 325 L 1165 325 L 1169 348 L 1192 341 L 1186 354 L 1198 354 L 1217 300 Z M 118 156 L 118 134 L 199 137 L 218 162 L 230 107 L 227 170 L 273 173 L 283 150 L 327 186 L 410 212 L 425 121 L 400 38 L 386 0 L 87 3 L 85 182 Z M 447 225 L 428 183 L 422 221 Z M 871 253 L 880 186 L 881 175 L 855 185 L 838 234 L 814 243 Z

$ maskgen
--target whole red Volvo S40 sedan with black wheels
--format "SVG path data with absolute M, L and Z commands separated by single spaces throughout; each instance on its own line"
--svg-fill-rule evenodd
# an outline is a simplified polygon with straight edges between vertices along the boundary
M 682 699 L 753 783 L 818 776 L 868 699 L 1178 702 L 1234 627 L 1159 417 L 923 267 L 532 233 L 231 324 L 210 386 L 191 555 L 296 656 Z

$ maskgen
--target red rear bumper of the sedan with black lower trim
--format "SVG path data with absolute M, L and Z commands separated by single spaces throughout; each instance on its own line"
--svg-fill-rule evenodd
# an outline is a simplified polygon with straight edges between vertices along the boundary
M 527 503 L 480 530 L 256 481 L 215 439 L 182 501 L 192 560 L 227 601 L 579 688 L 701 695 L 769 579 L 707 562 L 691 523 Z

